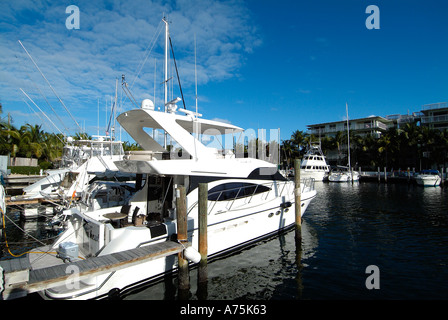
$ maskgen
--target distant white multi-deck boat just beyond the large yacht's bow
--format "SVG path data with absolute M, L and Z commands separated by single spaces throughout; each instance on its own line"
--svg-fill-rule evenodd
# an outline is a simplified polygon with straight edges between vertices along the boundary
M 324 181 L 328 178 L 329 172 L 330 166 L 325 161 L 320 143 L 310 144 L 300 165 L 300 178 L 313 178 L 315 181 Z

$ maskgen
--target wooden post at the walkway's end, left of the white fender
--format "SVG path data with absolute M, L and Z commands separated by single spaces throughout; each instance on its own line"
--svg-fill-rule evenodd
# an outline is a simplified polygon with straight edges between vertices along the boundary
M 177 241 L 179 243 L 186 243 L 188 241 L 187 234 L 187 204 L 185 187 L 178 186 L 176 190 L 176 214 L 177 214 Z M 179 296 L 182 297 L 188 294 L 190 289 L 190 279 L 188 274 L 188 260 L 184 258 L 184 253 L 179 252 L 178 257 L 178 285 Z

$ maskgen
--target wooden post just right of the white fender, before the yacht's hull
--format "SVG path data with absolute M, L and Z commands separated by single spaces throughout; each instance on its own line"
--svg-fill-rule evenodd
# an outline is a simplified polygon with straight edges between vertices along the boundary
M 208 201 L 208 184 L 199 183 L 198 204 L 199 204 L 199 253 L 201 261 L 198 268 L 198 298 L 207 299 L 207 201 Z

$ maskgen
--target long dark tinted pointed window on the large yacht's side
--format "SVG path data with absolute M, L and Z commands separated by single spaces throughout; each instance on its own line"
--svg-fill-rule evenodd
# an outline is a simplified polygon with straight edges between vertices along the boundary
M 211 201 L 226 201 L 249 197 L 254 194 L 262 193 L 271 190 L 271 188 L 244 182 L 230 182 L 223 183 L 213 187 L 208 191 L 208 200 Z

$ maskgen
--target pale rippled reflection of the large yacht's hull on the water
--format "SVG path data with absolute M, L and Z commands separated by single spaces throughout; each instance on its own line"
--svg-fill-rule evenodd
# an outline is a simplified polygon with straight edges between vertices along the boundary
M 207 299 L 296 299 L 300 296 L 300 269 L 307 266 L 317 241 L 306 222 L 302 223 L 301 261 L 294 240 L 294 230 L 258 242 L 249 248 L 229 256 L 215 259 L 208 264 Z M 140 292 L 127 295 L 125 299 L 177 299 L 175 277 L 149 286 Z M 171 289 L 171 296 L 167 296 Z M 200 299 L 197 269 L 190 271 L 190 299 Z

